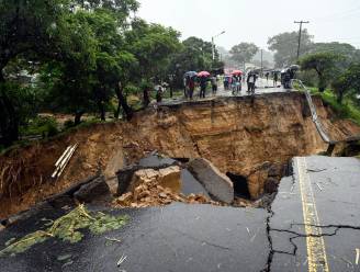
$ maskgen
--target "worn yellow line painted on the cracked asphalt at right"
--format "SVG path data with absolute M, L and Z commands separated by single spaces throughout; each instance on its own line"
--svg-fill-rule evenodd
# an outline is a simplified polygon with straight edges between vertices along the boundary
M 322 237 L 322 228 L 317 215 L 316 204 L 310 175 L 307 173 L 306 159 L 296 158 L 299 170 L 299 183 L 303 205 L 303 216 L 306 234 L 308 272 L 329 272 L 326 258 L 325 242 Z M 314 237 L 316 236 L 316 237 Z

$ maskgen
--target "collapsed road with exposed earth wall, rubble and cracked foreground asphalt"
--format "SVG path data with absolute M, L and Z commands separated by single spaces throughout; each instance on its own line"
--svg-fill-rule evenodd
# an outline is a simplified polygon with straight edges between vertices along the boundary
M 334 118 L 313 100 L 331 138 L 359 134 L 356 124 Z M 74 143 L 78 151 L 64 177 L 43 180 Z M 327 149 L 304 95 L 274 92 L 173 102 L 130 124 L 26 147 L 21 161 L 19 150 L 7 154 L 0 158 L 2 175 L 11 174 L 0 192 L 0 216 L 8 217 L 0 225 L 0 265 L 31 272 L 359 271 L 360 162 L 306 157 Z M 154 163 L 144 158 L 153 150 L 176 159 Z M 206 171 L 199 171 L 199 161 Z M 143 183 L 132 186 L 134 177 Z M 83 202 L 90 204 L 81 220 L 69 220 Z M 123 215 L 130 219 L 120 227 L 116 216 Z

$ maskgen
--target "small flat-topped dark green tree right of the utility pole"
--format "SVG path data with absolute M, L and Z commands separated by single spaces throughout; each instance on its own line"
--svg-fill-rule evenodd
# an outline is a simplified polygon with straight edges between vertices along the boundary
M 337 63 L 344 57 L 333 53 L 314 53 L 300 59 L 303 70 L 315 70 L 318 77 L 318 90 L 325 91 L 330 80 L 339 72 Z

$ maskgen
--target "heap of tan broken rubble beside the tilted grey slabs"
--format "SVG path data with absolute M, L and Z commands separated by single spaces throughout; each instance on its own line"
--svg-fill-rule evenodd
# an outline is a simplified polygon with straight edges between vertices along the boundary
M 128 192 L 115 199 L 113 204 L 116 207 L 136 208 L 162 206 L 172 202 L 222 205 L 206 199 L 202 194 L 185 196 L 180 193 L 180 189 L 179 167 L 169 167 L 160 170 L 143 169 L 134 173 Z

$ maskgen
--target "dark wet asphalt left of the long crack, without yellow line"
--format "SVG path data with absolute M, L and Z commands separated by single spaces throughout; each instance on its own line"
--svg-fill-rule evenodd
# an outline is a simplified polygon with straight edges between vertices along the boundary
M 38 228 L 34 224 L 52 218 L 52 213 L 4 230 L 0 245 L 24 235 L 24 229 Z M 261 271 L 267 264 L 263 209 L 172 204 L 115 213 L 128 214 L 131 223 L 106 235 L 87 234 L 74 245 L 49 239 L 24 253 L 0 258 L 1 271 Z M 105 237 L 121 242 L 106 245 Z M 69 258 L 61 260 L 64 256 Z M 121 257 L 126 260 L 117 268 Z

